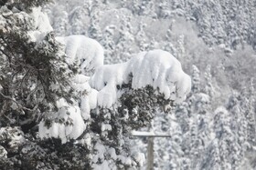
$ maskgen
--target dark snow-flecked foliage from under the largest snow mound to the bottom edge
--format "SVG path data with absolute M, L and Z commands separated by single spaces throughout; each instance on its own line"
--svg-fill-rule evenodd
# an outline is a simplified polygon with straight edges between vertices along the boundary
M 123 90 L 123 95 L 112 108 L 96 108 L 91 111 L 92 133 L 99 135 L 93 139 L 93 144 L 101 141 L 105 147 L 114 148 L 116 155 L 130 157 L 138 167 L 139 163 L 133 157 L 131 151 L 131 132 L 149 125 L 159 111 L 168 112 L 168 106 L 173 106 L 172 101 L 165 99 L 152 86 L 148 85 L 134 90 L 131 82 L 125 85 L 117 85 L 117 89 Z M 110 125 L 111 129 L 106 128 Z M 97 153 L 97 149 L 95 150 Z M 122 161 L 114 160 L 111 155 L 104 155 L 104 159 L 112 161 L 118 169 L 125 169 L 131 165 L 125 165 Z M 113 160 L 112 160 L 113 159 Z M 99 160 L 96 164 L 102 164 Z

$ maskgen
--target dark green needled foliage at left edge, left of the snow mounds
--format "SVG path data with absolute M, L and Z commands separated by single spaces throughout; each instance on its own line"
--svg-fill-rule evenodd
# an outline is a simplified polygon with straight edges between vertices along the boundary
M 7 22 L 0 29 L 0 110 L 5 117 L 1 125 L 23 125 L 28 117 L 38 121 L 38 113 L 57 109 L 60 97 L 71 102 L 73 90 L 67 77 L 76 72 L 76 67 L 68 65 L 65 55 L 59 53 L 52 33 L 32 42 L 27 35 L 33 29 L 27 23 L 29 18 L 13 23 L 17 15 L 2 15 Z

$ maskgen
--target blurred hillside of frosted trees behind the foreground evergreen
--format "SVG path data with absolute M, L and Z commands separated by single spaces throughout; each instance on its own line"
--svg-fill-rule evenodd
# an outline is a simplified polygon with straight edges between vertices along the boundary
M 172 135 L 155 138 L 155 169 L 255 168 L 255 1 L 59 0 L 45 10 L 58 35 L 100 42 L 104 63 L 160 48 L 192 76 L 186 102 L 143 129 Z

